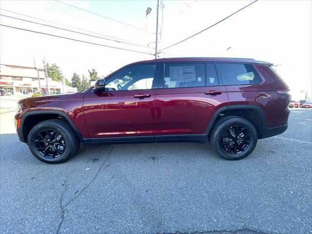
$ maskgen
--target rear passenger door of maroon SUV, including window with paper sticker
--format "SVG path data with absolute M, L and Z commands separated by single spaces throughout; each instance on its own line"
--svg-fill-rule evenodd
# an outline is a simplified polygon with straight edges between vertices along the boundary
M 216 109 L 228 104 L 215 63 L 164 63 L 160 74 L 155 98 L 156 139 L 205 137 Z

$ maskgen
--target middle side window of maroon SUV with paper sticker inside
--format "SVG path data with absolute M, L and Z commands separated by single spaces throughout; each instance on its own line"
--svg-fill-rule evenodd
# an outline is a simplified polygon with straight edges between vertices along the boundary
M 165 64 L 164 88 L 205 86 L 204 63 Z

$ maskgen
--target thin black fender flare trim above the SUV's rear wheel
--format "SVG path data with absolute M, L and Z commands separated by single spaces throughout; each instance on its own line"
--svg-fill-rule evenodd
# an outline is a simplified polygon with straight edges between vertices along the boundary
M 210 134 L 213 126 L 215 125 L 215 121 L 217 120 L 219 115 L 222 112 L 228 111 L 228 110 L 253 110 L 253 111 L 256 111 L 260 117 L 262 129 L 267 128 L 267 118 L 265 117 L 263 110 L 259 106 L 256 106 L 256 105 L 229 105 L 229 106 L 221 107 L 215 112 L 214 116 L 211 118 L 211 120 L 210 120 L 210 122 L 206 128 L 205 134 L 207 136 Z

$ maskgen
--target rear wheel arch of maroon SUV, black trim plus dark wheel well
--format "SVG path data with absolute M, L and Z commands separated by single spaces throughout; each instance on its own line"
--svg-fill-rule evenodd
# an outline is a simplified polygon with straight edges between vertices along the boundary
M 215 122 L 223 116 L 239 116 L 245 117 L 254 124 L 257 130 L 258 138 L 262 137 L 263 129 L 267 127 L 267 118 L 263 110 L 256 105 L 229 105 L 219 108 L 211 118 L 205 134 L 209 136 Z

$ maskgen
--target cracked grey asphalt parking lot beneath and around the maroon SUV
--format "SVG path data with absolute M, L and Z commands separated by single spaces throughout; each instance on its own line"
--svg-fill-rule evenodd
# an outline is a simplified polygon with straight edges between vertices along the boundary
M 312 234 L 311 109 L 292 110 L 284 134 L 238 161 L 208 143 L 156 143 L 81 146 L 49 165 L 18 140 L 8 99 L 1 234 Z

